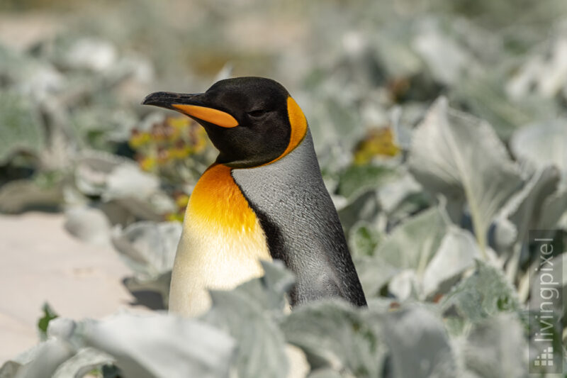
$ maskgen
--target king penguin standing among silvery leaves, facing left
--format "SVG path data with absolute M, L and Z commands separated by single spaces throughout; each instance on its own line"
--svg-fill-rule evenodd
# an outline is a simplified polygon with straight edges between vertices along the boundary
M 201 94 L 155 92 L 142 102 L 184 113 L 219 155 L 189 198 L 169 311 L 198 316 L 209 289 L 232 289 L 278 259 L 296 275 L 291 306 L 341 297 L 365 306 L 307 120 L 271 79 L 220 80 Z

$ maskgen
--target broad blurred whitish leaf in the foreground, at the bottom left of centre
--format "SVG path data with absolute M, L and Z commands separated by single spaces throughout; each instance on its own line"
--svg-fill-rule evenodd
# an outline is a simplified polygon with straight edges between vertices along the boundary
M 234 340 L 194 319 L 120 314 L 85 323 L 86 345 L 108 353 L 125 377 L 227 377 Z

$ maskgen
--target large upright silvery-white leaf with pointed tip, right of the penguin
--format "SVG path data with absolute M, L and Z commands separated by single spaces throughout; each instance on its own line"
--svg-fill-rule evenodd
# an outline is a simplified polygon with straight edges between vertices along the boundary
M 443 97 L 414 132 L 410 169 L 425 189 L 466 198 L 483 250 L 493 216 L 522 182 L 488 123 L 449 109 Z

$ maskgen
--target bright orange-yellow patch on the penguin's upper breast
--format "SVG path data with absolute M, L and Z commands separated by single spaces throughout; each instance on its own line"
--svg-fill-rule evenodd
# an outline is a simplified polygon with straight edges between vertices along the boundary
M 187 216 L 230 232 L 255 232 L 259 223 L 248 201 L 222 164 L 208 167 L 198 180 L 187 206 Z

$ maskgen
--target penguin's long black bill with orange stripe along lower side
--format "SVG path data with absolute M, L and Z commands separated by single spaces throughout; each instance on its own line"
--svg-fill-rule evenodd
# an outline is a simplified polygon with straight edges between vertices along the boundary
M 223 128 L 238 126 L 238 121 L 225 111 L 213 109 L 203 103 L 203 94 L 183 94 L 173 92 L 154 92 L 149 94 L 142 105 L 159 106 L 172 109 L 194 118 L 196 121 L 205 121 Z

